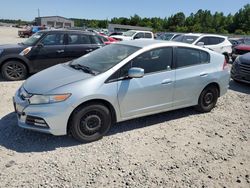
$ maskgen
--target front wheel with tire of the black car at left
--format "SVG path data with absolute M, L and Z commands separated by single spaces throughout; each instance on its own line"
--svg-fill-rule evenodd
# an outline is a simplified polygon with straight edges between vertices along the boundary
M 27 67 L 20 61 L 7 61 L 1 68 L 4 79 L 10 81 L 23 80 L 28 75 Z

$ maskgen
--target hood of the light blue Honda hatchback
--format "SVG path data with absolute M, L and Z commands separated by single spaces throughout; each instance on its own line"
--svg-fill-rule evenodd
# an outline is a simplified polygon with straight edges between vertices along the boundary
M 34 74 L 24 82 L 23 87 L 31 94 L 48 94 L 50 91 L 80 80 L 93 77 L 91 74 L 59 64 Z

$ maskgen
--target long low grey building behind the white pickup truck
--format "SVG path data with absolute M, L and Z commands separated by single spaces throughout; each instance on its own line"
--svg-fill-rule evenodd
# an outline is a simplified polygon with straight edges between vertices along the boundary
M 109 24 L 108 25 L 109 32 L 124 32 L 128 30 L 139 30 L 139 31 L 152 31 L 153 29 L 150 27 L 139 27 L 139 26 L 131 26 L 131 25 L 120 25 L 120 24 Z

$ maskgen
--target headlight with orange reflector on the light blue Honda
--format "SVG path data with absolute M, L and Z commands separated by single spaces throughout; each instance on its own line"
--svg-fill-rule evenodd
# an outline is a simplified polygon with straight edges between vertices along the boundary
M 59 95 L 32 95 L 29 98 L 30 104 L 50 104 L 56 102 L 62 102 L 70 97 L 70 93 Z

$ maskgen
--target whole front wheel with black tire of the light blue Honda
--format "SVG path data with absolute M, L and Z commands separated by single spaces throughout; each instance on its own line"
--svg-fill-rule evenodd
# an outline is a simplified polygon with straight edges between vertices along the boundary
M 72 136 L 80 142 L 101 139 L 111 127 L 111 114 L 102 104 L 89 104 L 76 109 L 69 121 Z

